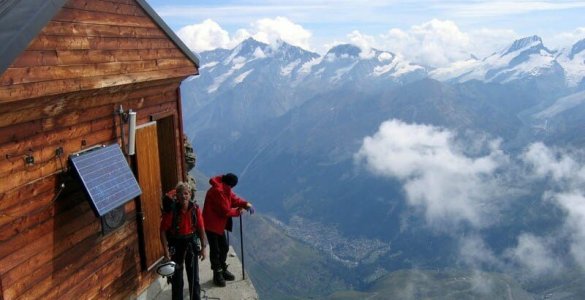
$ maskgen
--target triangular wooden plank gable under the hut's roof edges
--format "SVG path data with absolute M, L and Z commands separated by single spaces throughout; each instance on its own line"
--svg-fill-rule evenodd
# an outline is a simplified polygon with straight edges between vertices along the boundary
M 134 0 L 70 0 L 0 77 L 0 103 L 197 73 Z

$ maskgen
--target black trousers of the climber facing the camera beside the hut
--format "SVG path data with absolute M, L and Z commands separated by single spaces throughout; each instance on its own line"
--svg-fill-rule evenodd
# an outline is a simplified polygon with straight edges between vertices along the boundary
M 171 278 L 173 300 L 183 299 L 183 269 L 187 271 L 189 295 L 193 295 L 191 299 L 200 300 L 199 261 L 197 260 L 197 246 L 195 245 L 195 241 L 193 238 L 170 238 L 169 246 L 171 247 L 171 260 L 177 264 L 175 274 Z

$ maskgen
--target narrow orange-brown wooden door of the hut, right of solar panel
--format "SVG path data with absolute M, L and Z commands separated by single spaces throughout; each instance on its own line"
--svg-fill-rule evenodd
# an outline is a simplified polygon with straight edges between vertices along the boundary
M 162 187 L 156 122 L 136 128 L 136 170 L 142 195 L 137 204 L 143 267 L 150 270 L 164 256 L 160 243 Z

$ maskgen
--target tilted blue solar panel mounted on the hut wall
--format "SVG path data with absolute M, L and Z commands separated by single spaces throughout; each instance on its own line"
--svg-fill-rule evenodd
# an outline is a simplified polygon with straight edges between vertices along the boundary
M 142 194 L 118 144 L 72 155 L 69 159 L 93 210 L 100 217 Z

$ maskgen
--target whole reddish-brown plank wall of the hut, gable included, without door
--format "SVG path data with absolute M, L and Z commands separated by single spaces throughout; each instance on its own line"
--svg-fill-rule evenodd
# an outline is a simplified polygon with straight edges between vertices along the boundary
M 177 89 L 196 72 L 133 0 L 71 0 L 0 76 L 0 299 L 122 299 L 153 280 L 135 204 L 102 236 L 61 172 L 69 154 L 120 141 L 120 105 L 138 124 L 161 112 L 179 124 Z

